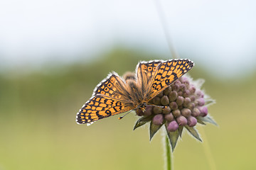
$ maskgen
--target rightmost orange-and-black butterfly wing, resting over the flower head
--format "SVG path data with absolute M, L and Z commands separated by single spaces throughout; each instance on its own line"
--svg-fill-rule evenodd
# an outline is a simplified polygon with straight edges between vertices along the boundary
M 149 93 L 147 100 L 154 98 L 161 91 L 170 86 L 178 78 L 186 74 L 192 67 L 193 62 L 191 60 L 167 60 L 162 62 L 156 68 L 154 77 L 149 83 Z

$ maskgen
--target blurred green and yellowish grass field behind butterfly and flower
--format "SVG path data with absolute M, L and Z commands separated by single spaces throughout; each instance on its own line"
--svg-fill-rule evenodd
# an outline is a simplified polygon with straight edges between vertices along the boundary
M 122 75 L 146 60 L 139 52 L 107 56 L 26 75 L 1 75 L 0 169 L 163 169 L 161 135 L 149 142 L 148 127 L 132 131 L 134 114 L 90 127 L 75 123 L 76 112 L 108 72 Z M 219 127 L 198 128 L 206 132 L 217 169 L 256 169 L 255 75 L 220 81 L 198 67 L 190 73 L 206 79 L 203 87 L 217 101 L 209 111 Z M 201 142 L 186 133 L 174 151 L 174 166 L 210 169 Z

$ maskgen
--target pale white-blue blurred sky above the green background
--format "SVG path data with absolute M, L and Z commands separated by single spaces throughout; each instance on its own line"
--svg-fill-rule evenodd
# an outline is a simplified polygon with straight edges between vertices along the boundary
M 0 1 L 0 67 L 78 61 L 119 43 L 169 56 L 155 1 Z M 224 75 L 255 69 L 256 1 L 159 1 L 181 58 Z

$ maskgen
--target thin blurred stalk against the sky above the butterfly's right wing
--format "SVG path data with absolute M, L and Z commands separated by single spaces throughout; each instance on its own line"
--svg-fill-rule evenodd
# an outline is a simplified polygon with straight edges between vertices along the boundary
M 167 43 L 168 43 L 168 46 L 169 46 L 169 50 L 171 51 L 171 55 L 172 57 L 175 59 L 175 58 L 179 58 L 178 57 L 178 53 L 176 52 L 175 50 L 175 47 L 174 47 L 174 44 L 171 40 L 171 35 L 169 33 L 169 28 L 168 28 L 168 23 L 166 21 L 166 17 L 164 15 L 164 11 L 163 11 L 163 8 L 161 7 L 161 3 L 160 3 L 161 0 L 154 0 L 155 2 L 155 5 L 156 5 L 156 11 L 159 15 L 159 19 L 160 19 L 160 22 L 161 22 L 161 25 L 162 25 L 162 28 L 164 29 L 164 35 L 166 37 L 166 40 L 167 40 Z

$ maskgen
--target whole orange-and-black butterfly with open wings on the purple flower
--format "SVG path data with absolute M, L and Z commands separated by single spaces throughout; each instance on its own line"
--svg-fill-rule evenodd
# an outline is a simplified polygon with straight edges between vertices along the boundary
M 141 109 L 192 67 L 191 60 L 151 60 L 137 64 L 135 77 L 124 81 L 110 73 L 95 87 L 92 97 L 77 113 L 78 124 L 90 125 L 111 115 Z

